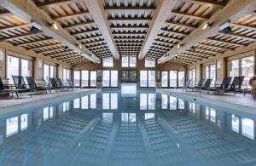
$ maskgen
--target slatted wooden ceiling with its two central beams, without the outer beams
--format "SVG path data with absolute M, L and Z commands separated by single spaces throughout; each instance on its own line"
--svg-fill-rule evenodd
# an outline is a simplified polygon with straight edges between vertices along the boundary
M 100 59 L 118 59 L 119 55 L 141 56 L 143 52 L 143 58 L 160 59 L 173 53 L 177 44 L 183 43 L 202 24 L 236 0 L 173 0 L 170 8 L 166 8 L 165 5 L 170 3 L 168 1 L 33 0 L 33 3 L 38 11 L 48 14 L 77 43 Z M 161 13 L 164 8 L 167 14 Z M 43 31 L 31 34 L 32 24 L 11 12 L 0 7 L 1 42 L 69 64 L 86 61 L 81 53 L 73 49 L 65 51 L 63 42 Z M 184 49 L 177 53 L 177 57 L 168 60 L 189 65 L 255 41 L 255 13 L 245 13 L 232 21 L 230 26 L 232 33 L 229 35 L 223 31 L 211 31 L 211 35 L 193 45 L 195 51 Z

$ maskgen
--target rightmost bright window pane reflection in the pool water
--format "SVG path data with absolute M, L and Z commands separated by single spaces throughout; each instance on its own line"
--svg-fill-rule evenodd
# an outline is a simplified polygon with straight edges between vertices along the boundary
M 254 140 L 254 122 L 252 119 L 245 117 L 241 119 L 241 135 Z

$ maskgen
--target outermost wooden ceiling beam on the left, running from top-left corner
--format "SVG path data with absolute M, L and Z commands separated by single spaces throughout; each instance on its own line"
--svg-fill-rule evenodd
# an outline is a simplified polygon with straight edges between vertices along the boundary
M 32 0 L 0 0 L 0 3 L 3 8 L 12 11 L 16 15 L 19 15 L 21 19 L 26 20 L 27 22 L 30 22 L 31 20 L 38 22 L 38 24 L 41 26 L 41 31 L 43 31 L 49 37 L 53 37 L 55 40 L 60 41 L 69 47 L 69 49 L 73 49 L 79 54 L 82 53 L 88 60 L 91 60 L 95 63 L 100 63 L 100 60 L 94 54 L 92 54 L 89 49 L 86 49 L 84 46 L 82 46 L 81 49 L 77 47 L 77 44 L 81 43 L 79 43 L 75 37 L 72 37 L 57 22 L 52 20 L 49 14 L 46 14 L 43 10 L 38 9 Z M 58 26 L 58 30 L 55 30 L 53 26 L 49 26 L 53 23 Z

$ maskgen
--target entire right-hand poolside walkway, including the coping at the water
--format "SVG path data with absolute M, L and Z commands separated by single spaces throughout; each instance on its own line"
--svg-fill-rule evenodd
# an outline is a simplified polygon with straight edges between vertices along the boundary
M 158 89 L 159 92 L 166 94 L 186 96 L 191 99 L 200 100 L 208 104 L 215 104 L 219 106 L 229 107 L 232 109 L 241 110 L 242 112 L 248 112 L 256 114 L 256 100 L 253 99 L 251 94 L 207 94 L 207 92 L 192 92 L 183 89 Z

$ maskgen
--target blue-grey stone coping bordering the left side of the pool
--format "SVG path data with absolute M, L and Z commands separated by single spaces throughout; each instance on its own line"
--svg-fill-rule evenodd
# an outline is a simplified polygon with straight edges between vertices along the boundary
M 86 89 L 83 91 L 73 91 L 72 94 L 63 93 L 60 95 L 51 95 L 49 98 L 43 98 L 38 100 L 26 101 L 24 103 L 9 105 L 9 106 L 0 106 L 0 115 L 9 112 L 19 112 L 20 110 L 31 109 L 33 107 L 40 107 L 46 104 L 61 102 L 62 100 L 72 100 L 76 97 L 80 97 L 82 94 L 91 94 L 95 92 L 100 92 L 102 89 Z M 15 100 L 14 100 L 15 102 Z

